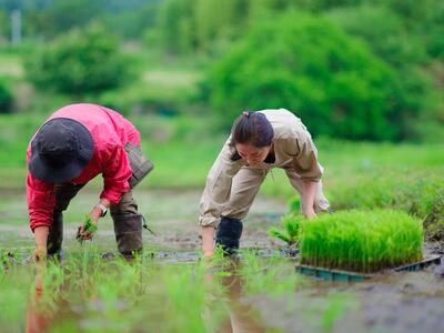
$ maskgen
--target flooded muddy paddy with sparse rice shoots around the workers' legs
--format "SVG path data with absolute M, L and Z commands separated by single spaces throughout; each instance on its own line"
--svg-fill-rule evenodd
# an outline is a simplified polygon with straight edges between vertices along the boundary
M 112 222 L 80 246 L 75 230 L 97 201 L 83 191 L 65 214 L 61 263 L 34 265 L 24 193 L 0 203 L 2 332 L 444 332 L 444 279 L 431 266 L 359 283 L 295 273 L 295 260 L 268 230 L 286 204 L 258 198 L 238 259 L 201 260 L 195 191 L 137 193 L 158 234 L 128 262 L 115 253 Z M 251 250 L 254 249 L 254 250 Z M 18 258 L 8 255 L 13 252 Z M 426 252 L 440 248 L 427 245 Z

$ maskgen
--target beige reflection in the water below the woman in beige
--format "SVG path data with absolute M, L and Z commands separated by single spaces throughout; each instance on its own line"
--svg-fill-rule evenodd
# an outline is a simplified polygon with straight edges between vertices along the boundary
M 226 289 L 226 302 L 225 309 L 228 312 L 228 319 L 222 323 L 216 332 L 225 333 L 246 333 L 265 332 L 265 329 L 261 325 L 259 316 L 254 313 L 249 304 L 242 302 L 243 293 L 243 276 L 239 274 L 242 263 L 239 259 L 231 259 L 228 268 L 224 269 L 224 273 L 220 279 L 221 284 Z

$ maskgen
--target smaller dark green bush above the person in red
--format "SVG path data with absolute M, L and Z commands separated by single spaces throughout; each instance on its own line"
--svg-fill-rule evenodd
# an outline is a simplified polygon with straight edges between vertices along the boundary
M 121 85 L 129 65 L 119 41 L 100 24 L 72 30 L 28 59 L 28 77 L 39 89 L 98 93 Z

